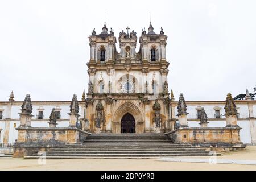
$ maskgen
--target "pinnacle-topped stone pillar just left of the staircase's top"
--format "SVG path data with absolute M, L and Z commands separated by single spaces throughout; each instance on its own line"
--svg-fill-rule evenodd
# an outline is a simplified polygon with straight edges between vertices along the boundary
M 76 127 L 76 123 L 78 122 L 79 114 L 79 104 L 77 101 L 76 94 L 73 95 L 71 105 L 70 105 L 70 119 L 69 119 L 69 127 Z

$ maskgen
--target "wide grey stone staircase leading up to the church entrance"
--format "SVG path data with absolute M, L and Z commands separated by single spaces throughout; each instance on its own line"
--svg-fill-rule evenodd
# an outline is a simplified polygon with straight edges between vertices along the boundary
M 220 154 L 217 154 L 220 155 Z M 42 154 L 24 156 L 36 159 Z M 209 156 L 205 148 L 173 144 L 164 134 L 92 134 L 82 144 L 67 144 L 46 151 L 47 159 L 75 158 L 166 158 L 174 156 Z

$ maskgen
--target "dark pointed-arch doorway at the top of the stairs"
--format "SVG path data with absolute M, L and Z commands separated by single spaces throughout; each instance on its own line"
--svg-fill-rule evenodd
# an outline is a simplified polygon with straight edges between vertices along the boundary
M 121 133 L 135 133 L 135 119 L 133 115 L 127 113 L 121 120 Z

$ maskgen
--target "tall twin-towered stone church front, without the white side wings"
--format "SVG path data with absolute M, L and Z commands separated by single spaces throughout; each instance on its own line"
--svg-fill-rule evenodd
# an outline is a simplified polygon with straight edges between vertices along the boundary
M 93 132 L 144 133 L 170 130 L 168 117 L 168 65 L 163 30 L 150 24 L 143 30 L 136 52 L 137 34 L 120 32 L 116 38 L 106 25 L 93 30 L 88 65 L 89 90 L 86 118 Z M 98 110 L 97 110 L 98 108 Z M 126 118 L 127 117 L 127 118 Z

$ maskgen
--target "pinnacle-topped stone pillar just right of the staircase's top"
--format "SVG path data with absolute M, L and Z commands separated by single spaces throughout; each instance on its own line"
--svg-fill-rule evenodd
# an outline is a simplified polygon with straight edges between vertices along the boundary
M 178 114 L 177 116 L 179 117 L 179 127 L 188 127 L 188 119 L 187 119 L 187 104 L 184 100 L 183 94 L 180 94 L 179 98 L 179 104 L 177 106 L 178 109 Z

